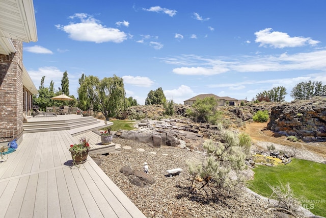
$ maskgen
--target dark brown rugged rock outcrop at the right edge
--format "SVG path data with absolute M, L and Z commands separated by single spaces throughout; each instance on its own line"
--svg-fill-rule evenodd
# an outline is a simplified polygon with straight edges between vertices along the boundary
M 326 100 L 293 101 L 271 108 L 269 130 L 304 141 L 326 140 Z

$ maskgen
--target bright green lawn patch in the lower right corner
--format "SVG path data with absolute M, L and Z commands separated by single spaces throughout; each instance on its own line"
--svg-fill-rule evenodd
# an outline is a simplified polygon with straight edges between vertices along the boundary
M 268 184 L 279 186 L 280 183 L 289 183 L 303 207 L 315 215 L 326 216 L 326 164 L 293 159 L 286 165 L 256 165 L 254 172 L 255 179 L 248 181 L 248 187 L 259 195 L 271 195 Z

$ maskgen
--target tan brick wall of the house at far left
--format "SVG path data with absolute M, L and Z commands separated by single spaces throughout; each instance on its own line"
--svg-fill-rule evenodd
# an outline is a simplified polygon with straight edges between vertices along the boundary
M 13 44 L 16 53 L 0 55 L 0 143 L 22 140 L 22 42 Z

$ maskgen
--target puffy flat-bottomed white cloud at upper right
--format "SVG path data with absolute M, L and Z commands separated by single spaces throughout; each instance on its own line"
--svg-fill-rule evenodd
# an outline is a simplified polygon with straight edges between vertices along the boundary
M 316 45 L 319 41 L 312 40 L 310 37 L 304 38 L 302 36 L 290 37 L 287 33 L 282 33 L 278 31 L 272 32 L 273 29 L 266 28 L 255 32 L 256 40 L 255 42 L 260 43 L 261 46 L 269 46 L 274 48 L 284 48 L 284 47 L 298 47 L 304 46 L 306 44 Z

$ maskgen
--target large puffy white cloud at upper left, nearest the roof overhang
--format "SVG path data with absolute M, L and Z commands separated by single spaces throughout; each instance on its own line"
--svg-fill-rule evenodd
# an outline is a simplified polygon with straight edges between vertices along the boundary
M 91 41 L 95 43 L 120 43 L 127 39 L 127 34 L 116 28 L 102 26 L 100 21 L 89 14 L 78 13 L 69 18 L 80 19 L 80 22 L 70 22 L 69 25 L 56 25 L 59 30 L 66 32 L 69 38 L 77 41 Z

